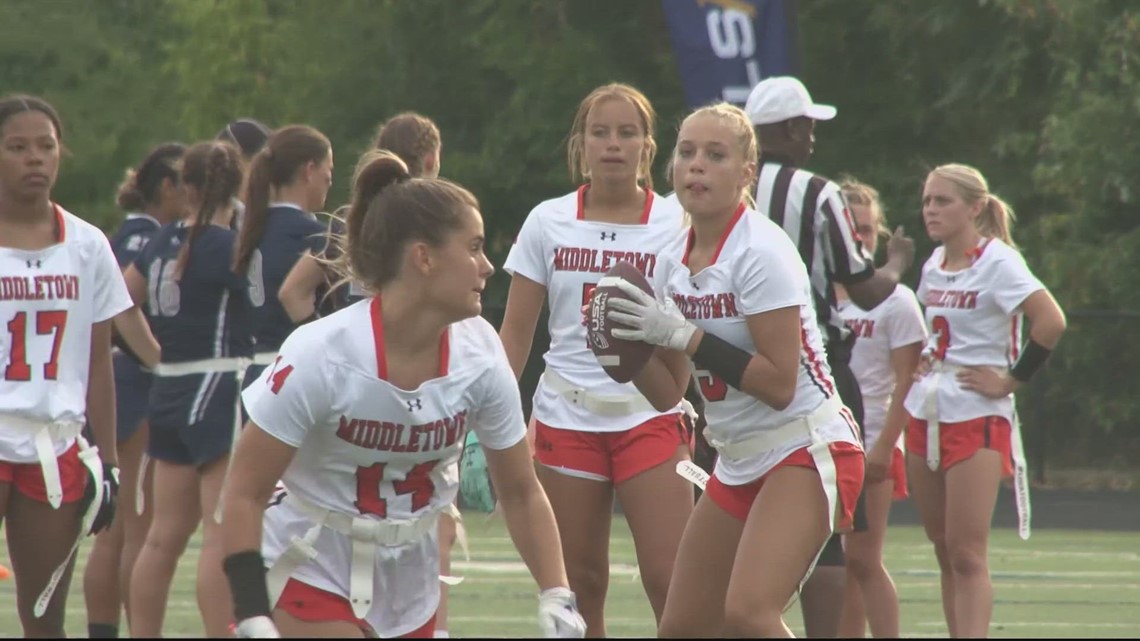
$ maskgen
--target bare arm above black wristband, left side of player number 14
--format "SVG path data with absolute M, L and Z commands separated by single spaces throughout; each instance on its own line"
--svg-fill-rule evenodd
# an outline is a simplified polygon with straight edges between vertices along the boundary
M 274 487 L 296 448 L 250 421 L 234 448 L 222 493 L 221 530 L 226 553 L 261 550 L 261 518 Z

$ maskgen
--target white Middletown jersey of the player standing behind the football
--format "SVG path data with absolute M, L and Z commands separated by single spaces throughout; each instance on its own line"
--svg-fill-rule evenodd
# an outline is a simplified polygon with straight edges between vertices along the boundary
M 586 343 L 581 307 L 602 276 L 620 260 L 635 265 L 652 278 L 658 269 L 658 252 L 682 228 L 682 211 L 676 201 L 667 202 L 648 192 L 640 225 L 584 220 L 585 194 L 583 186 L 536 206 L 523 222 L 503 268 L 547 290 L 551 309 L 551 348 L 544 356 L 547 368 L 591 393 L 641 397 L 633 383 L 614 382 L 597 364 Z M 552 428 L 612 432 L 640 425 L 660 413 L 601 416 L 569 403 L 540 380 L 535 390 L 534 415 Z

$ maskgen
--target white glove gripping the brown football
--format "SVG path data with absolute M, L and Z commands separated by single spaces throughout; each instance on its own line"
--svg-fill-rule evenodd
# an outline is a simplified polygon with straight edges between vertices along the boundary
M 613 330 L 611 332 L 613 338 L 685 351 L 693 332 L 697 331 L 697 325 L 685 320 L 685 316 L 673 300 L 666 298 L 663 302 L 658 302 L 637 285 L 624 278 L 618 281 L 617 286 L 633 300 L 611 297 L 605 301 L 610 307 L 605 316 L 610 320 L 633 328 Z

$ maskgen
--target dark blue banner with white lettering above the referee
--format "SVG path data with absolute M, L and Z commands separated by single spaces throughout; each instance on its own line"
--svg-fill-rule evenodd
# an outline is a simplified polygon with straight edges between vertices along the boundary
M 661 0 L 690 107 L 796 73 L 796 0 Z

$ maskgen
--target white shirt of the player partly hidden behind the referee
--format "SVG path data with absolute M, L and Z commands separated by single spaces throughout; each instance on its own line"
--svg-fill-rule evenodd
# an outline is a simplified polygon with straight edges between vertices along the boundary
M 926 342 L 926 323 L 914 292 L 898 285 L 887 300 L 864 311 L 850 300 L 839 303 L 839 314 L 855 334 L 852 373 L 863 392 L 863 446 L 870 451 L 887 422 L 887 409 L 895 390 L 891 350 Z M 899 435 L 901 448 L 902 435 Z

